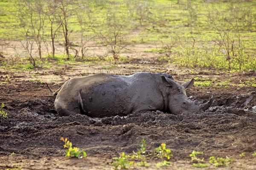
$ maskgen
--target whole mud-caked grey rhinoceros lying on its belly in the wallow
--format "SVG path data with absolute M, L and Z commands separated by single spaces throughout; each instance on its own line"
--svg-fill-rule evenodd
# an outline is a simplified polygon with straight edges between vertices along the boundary
M 139 72 L 131 76 L 95 74 L 72 78 L 55 93 L 55 109 L 61 116 L 81 113 L 90 117 L 126 116 L 141 111 L 163 111 L 178 114 L 183 111 L 207 110 L 209 102 L 197 105 L 187 99 L 185 88 L 171 75 Z M 48 86 L 48 85 L 47 85 Z

